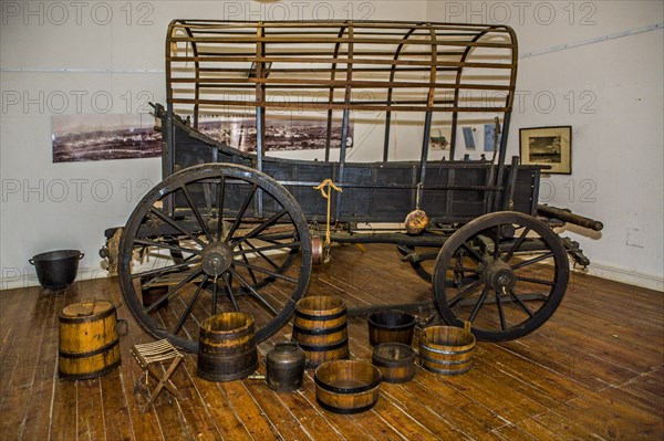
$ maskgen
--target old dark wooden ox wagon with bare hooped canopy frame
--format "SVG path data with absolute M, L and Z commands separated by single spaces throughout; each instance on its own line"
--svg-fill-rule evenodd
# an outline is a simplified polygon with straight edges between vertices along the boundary
M 263 340 L 331 244 L 378 242 L 432 283 L 447 324 L 489 340 L 536 329 L 568 255 L 588 264 L 552 228 L 601 223 L 539 206 L 546 167 L 507 158 L 517 61 L 505 25 L 173 21 L 155 105 L 164 180 L 118 246 L 126 305 L 188 350 L 222 311 L 253 315 Z M 460 128 L 486 122 L 495 151 L 461 157 Z M 297 153 L 309 159 L 273 153 L 298 138 L 318 147 Z M 372 145 L 373 161 L 350 160 Z

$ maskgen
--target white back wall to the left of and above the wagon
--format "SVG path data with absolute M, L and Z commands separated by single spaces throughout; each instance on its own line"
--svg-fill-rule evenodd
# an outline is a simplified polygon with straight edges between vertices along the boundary
M 85 253 L 81 277 L 104 275 L 103 232 L 123 225 L 160 160 L 52 164 L 51 116 L 136 113 L 164 103 L 173 19 L 419 20 L 425 1 L 0 2 L 0 288 L 34 284 L 28 260 Z

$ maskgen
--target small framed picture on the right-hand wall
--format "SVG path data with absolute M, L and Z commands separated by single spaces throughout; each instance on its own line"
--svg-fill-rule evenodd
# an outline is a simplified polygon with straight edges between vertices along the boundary
M 572 172 L 572 126 L 528 127 L 519 135 L 521 164 L 550 166 L 546 174 Z

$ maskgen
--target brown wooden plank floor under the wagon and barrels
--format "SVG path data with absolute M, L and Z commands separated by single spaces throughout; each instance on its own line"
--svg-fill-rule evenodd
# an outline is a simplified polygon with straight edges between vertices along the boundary
M 335 294 L 349 306 L 430 298 L 430 287 L 394 246 L 335 248 L 314 270 L 309 294 Z M 574 275 L 560 309 L 517 342 L 479 343 L 475 367 L 443 377 L 418 370 L 382 386 L 371 411 L 339 416 L 315 403 L 312 372 L 303 388 L 276 393 L 262 381 L 209 382 L 187 355 L 174 376 L 183 397 L 163 392 L 147 413 L 129 347 L 151 342 L 126 307 L 122 366 L 65 381 L 58 374 L 58 313 L 82 297 L 121 302 L 115 280 L 0 292 L 0 439 L 2 440 L 662 440 L 664 295 Z M 352 357 L 371 359 L 366 322 L 350 319 Z M 290 337 L 290 326 L 272 342 Z M 270 343 L 259 349 L 264 353 Z M 261 371 L 264 368 L 261 366 Z

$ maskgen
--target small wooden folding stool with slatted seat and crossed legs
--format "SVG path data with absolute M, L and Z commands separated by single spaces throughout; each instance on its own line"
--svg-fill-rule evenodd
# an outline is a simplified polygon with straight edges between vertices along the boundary
M 148 375 L 152 375 L 157 380 L 157 386 L 152 390 L 147 389 L 148 400 L 143 407 L 142 411 L 145 412 L 149 405 L 154 403 L 157 399 L 157 396 L 162 391 L 162 389 L 168 390 L 173 393 L 177 399 L 180 398 L 180 395 L 170 381 L 170 376 L 175 372 L 175 369 L 179 366 L 180 361 L 185 358 L 185 356 L 179 353 L 175 346 L 167 339 L 153 342 L 153 343 L 144 343 L 132 346 L 132 355 L 138 361 L 138 365 L 145 370 L 145 384 L 147 386 Z M 164 371 L 159 371 L 154 365 L 157 363 L 164 363 L 173 359 L 168 368 L 164 369 Z M 138 380 L 141 381 L 141 380 Z

